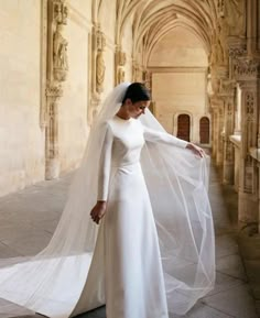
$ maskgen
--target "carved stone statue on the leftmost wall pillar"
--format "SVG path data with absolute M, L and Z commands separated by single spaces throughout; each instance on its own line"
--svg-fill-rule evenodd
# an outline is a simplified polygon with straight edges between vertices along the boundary
M 67 41 L 62 35 L 63 24 L 57 24 L 53 35 L 53 75 L 54 79 L 64 81 L 67 76 Z

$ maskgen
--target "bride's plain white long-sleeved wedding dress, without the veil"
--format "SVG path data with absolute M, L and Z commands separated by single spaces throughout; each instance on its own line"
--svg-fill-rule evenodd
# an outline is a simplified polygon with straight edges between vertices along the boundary
M 169 317 L 156 227 L 140 165 L 145 141 L 187 144 L 136 119 L 116 116 L 107 122 L 97 198 L 107 201 L 107 211 L 75 312 L 106 303 L 107 318 Z

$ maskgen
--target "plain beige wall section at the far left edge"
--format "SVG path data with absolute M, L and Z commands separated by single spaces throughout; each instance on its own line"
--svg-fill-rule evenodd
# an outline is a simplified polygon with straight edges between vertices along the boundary
M 0 1 L 0 195 L 44 177 L 41 1 Z

